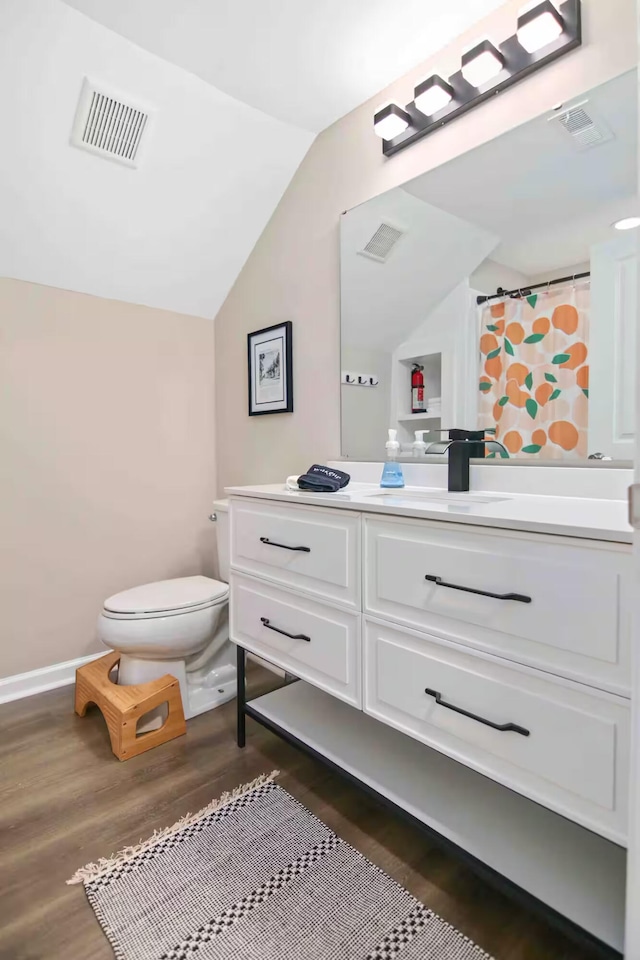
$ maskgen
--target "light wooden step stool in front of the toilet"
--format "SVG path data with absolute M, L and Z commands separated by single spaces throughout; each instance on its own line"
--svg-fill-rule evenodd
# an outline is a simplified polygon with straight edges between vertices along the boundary
M 109 673 L 120 662 L 119 653 L 108 653 L 76 670 L 75 711 L 84 717 L 90 703 L 95 703 L 109 730 L 111 749 L 118 760 L 128 760 L 161 743 L 181 737 L 187 732 L 180 684 L 165 674 L 159 680 L 118 686 Z M 159 730 L 136 736 L 140 717 L 166 703 L 168 716 Z

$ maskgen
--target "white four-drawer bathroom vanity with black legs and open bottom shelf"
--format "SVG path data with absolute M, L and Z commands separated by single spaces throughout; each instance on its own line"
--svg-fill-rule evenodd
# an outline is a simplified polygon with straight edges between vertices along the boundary
M 623 502 L 366 483 L 227 492 L 239 743 L 255 718 L 604 955 L 621 951 Z M 246 702 L 246 651 L 297 682 Z

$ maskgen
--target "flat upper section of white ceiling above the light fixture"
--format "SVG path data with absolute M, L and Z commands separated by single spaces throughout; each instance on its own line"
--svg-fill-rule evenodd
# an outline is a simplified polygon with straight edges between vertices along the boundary
M 66 0 L 232 97 L 318 132 L 504 0 Z

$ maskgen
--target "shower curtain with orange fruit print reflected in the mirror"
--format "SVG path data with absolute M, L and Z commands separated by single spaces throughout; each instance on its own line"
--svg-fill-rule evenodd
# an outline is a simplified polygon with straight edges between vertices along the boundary
M 480 309 L 479 427 L 509 456 L 587 456 L 590 285 Z

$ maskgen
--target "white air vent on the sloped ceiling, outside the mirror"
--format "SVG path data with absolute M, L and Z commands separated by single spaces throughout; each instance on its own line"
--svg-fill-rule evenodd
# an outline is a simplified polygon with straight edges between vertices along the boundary
M 75 147 L 108 160 L 137 167 L 151 111 L 86 77 L 71 132 Z

